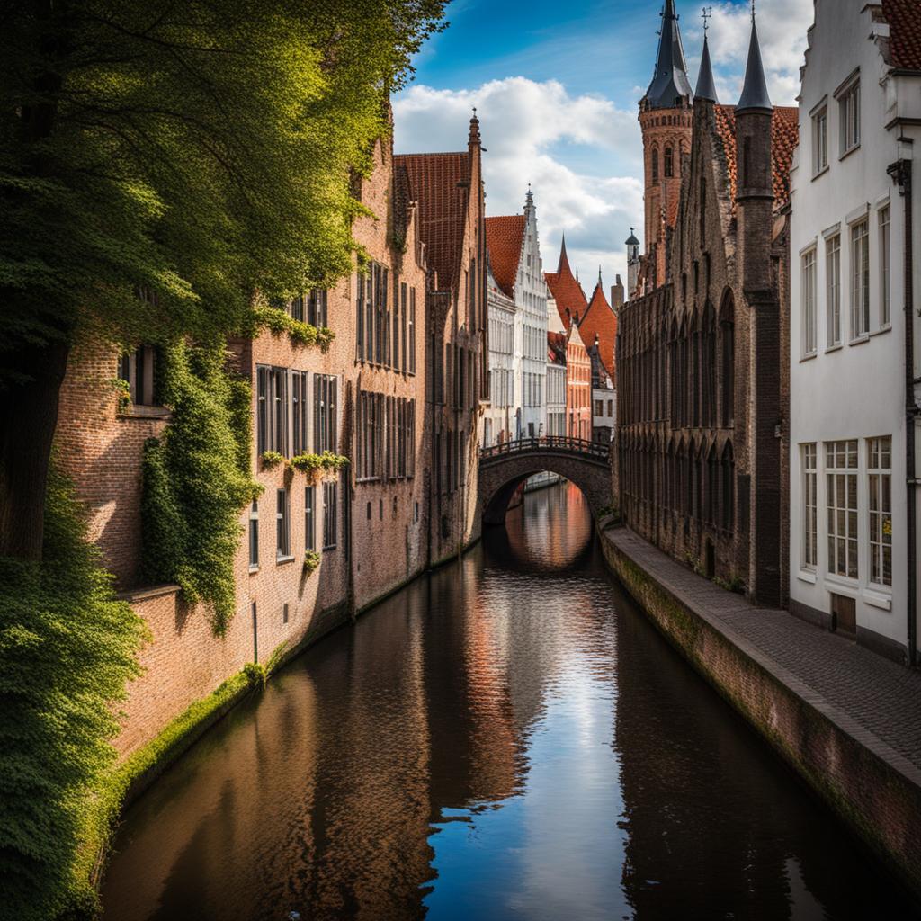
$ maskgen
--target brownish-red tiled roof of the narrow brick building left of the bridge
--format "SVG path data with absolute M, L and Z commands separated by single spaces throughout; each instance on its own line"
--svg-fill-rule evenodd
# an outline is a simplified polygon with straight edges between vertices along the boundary
M 394 166 L 405 169 L 411 200 L 419 203 L 419 235 L 428 264 L 444 290 L 458 282 L 464 218 L 470 192 L 470 155 L 400 154 Z

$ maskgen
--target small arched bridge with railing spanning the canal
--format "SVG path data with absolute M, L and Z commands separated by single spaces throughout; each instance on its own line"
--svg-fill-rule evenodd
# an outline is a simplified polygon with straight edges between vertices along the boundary
M 503 524 L 508 502 L 528 477 L 550 471 L 575 483 L 592 511 L 609 506 L 611 446 L 583 438 L 521 438 L 480 451 L 480 511 L 484 524 Z

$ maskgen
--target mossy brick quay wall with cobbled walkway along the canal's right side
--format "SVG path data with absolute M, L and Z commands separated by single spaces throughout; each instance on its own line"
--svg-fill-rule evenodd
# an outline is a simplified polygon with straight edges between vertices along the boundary
M 752 607 L 627 528 L 600 538 L 659 631 L 921 897 L 921 673 Z

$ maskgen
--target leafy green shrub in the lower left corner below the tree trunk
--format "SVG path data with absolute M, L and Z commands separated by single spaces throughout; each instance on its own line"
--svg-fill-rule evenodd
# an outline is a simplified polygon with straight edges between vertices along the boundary
M 53 466 L 43 556 L 0 558 L 0 914 L 20 921 L 47 921 L 79 890 L 87 800 L 114 762 L 112 704 L 145 635 Z M 88 883 L 79 895 L 92 904 Z

